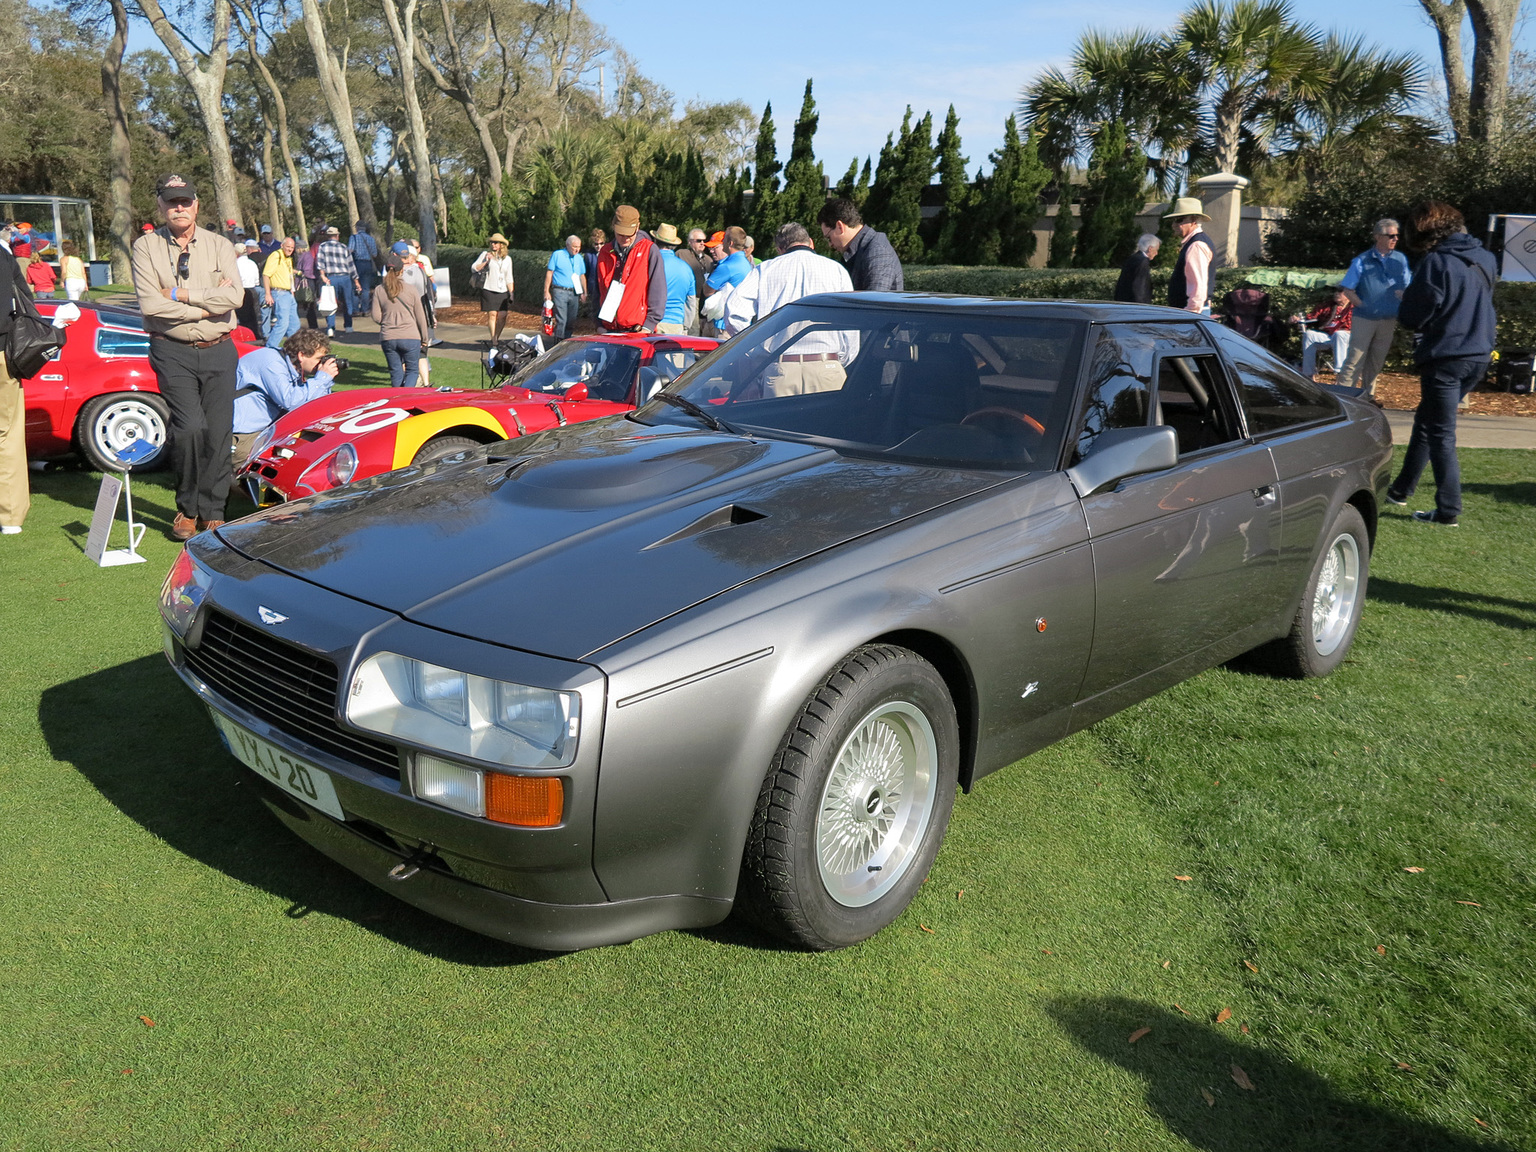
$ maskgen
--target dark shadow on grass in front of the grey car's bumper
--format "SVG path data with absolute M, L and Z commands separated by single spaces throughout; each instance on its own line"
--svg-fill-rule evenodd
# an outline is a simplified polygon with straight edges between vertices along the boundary
M 124 816 L 194 860 L 286 900 L 281 915 L 352 920 L 458 965 L 501 968 L 551 955 L 427 915 L 292 836 L 163 656 L 48 688 L 38 720 L 54 759 L 74 765 Z

